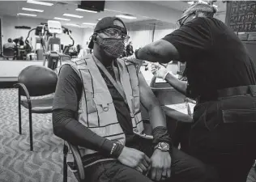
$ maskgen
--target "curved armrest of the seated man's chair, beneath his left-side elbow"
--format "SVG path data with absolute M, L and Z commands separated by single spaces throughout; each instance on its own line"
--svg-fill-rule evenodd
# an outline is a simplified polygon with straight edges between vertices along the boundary
M 75 163 L 76 163 L 77 168 L 79 170 L 80 180 L 85 180 L 83 162 L 82 162 L 81 154 L 79 152 L 79 147 L 78 146 L 73 146 L 70 142 L 67 142 L 67 144 L 70 147 L 70 150 L 72 151 L 73 157 L 75 159 Z

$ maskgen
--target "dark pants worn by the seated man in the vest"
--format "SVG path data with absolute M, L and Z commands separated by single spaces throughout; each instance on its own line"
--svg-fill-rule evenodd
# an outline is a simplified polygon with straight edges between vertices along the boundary
M 134 143 L 134 148 L 143 151 L 151 157 L 153 150 L 151 141 L 139 138 Z M 189 155 L 173 148 L 172 176 L 165 181 L 172 182 L 217 182 L 216 173 L 212 167 L 194 159 Z M 85 169 L 88 181 L 92 182 L 150 182 L 151 180 L 139 171 L 126 167 L 118 161 L 101 162 Z

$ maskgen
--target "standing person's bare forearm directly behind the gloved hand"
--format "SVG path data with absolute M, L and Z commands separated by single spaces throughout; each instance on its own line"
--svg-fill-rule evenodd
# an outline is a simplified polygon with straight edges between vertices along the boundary
M 181 94 L 186 95 L 186 87 L 187 83 L 181 81 L 173 76 L 173 74 L 167 74 L 165 77 L 167 83 L 169 83 L 173 88 L 177 91 L 181 92 Z

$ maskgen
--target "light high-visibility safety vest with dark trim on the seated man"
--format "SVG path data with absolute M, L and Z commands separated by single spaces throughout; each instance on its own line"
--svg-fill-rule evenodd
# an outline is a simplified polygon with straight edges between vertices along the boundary
M 92 54 L 70 64 L 83 82 L 83 93 L 79 102 L 78 121 L 91 129 L 100 137 L 125 145 L 126 136 L 117 121 L 117 113 L 113 105 L 104 78 L 96 64 L 96 57 Z M 120 83 L 125 94 L 126 104 L 130 108 L 130 118 L 133 131 L 142 137 L 143 120 L 140 112 L 139 79 L 136 65 L 133 62 L 117 59 Z M 92 154 L 96 151 L 79 146 L 81 155 Z

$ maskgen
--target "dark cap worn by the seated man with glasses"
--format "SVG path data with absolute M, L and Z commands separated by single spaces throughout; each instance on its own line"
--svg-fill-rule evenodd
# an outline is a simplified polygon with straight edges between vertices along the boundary
M 124 27 L 120 27 L 114 23 L 114 21 L 117 20 L 123 24 Z M 124 34 L 127 35 L 127 29 L 125 23 L 123 23 L 122 19 L 119 19 L 117 17 L 105 17 L 103 19 L 100 19 L 100 21 L 96 24 L 96 27 L 94 28 L 94 33 L 100 32 L 102 30 L 105 30 L 107 28 L 117 28 L 118 30 L 121 30 Z M 93 49 L 93 40 L 90 41 L 88 48 Z

